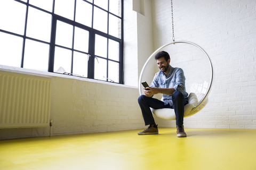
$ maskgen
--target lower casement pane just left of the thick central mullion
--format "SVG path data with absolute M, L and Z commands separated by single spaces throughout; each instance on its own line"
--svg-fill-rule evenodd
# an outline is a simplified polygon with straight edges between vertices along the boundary
M 87 78 L 88 60 L 89 57 L 87 54 L 74 52 L 73 73 Z

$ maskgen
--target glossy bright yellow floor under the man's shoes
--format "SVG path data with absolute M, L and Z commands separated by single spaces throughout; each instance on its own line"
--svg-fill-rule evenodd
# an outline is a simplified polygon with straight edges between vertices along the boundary
M 0 169 L 256 169 L 256 129 L 174 128 L 0 141 Z

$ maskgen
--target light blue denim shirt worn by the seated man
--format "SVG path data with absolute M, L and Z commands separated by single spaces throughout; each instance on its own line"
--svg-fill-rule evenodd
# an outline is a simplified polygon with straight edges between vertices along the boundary
M 174 88 L 175 91 L 179 90 L 186 99 L 188 97 L 188 93 L 186 92 L 185 87 L 186 78 L 184 72 L 178 67 L 174 68 L 171 65 L 170 67 L 171 69 L 167 77 L 162 71 L 156 73 L 150 87 Z M 165 105 L 170 104 L 172 106 L 172 95 L 163 94 L 163 101 Z

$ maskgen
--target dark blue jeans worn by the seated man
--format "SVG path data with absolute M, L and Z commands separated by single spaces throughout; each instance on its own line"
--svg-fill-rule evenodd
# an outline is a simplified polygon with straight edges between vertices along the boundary
M 184 117 L 184 106 L 188 104 L 188 100 L 184 98 L 183 94 L 180 91 L 174 91 L 172 94 L 173 106 L 164 105 L 164 102 L 153 97 L 147 97 L 145 95 L 141 95 L 138 98 L 138 103 L 141 108 L 141 112 L 143 115 L 143 119 L 145 125 L 155 124 L 155 120 L 153 114 L 150 110 L 151 108 L 172 108 L 174 109 L 176 116 L 176 125 L 183 125 L 183 117 Z

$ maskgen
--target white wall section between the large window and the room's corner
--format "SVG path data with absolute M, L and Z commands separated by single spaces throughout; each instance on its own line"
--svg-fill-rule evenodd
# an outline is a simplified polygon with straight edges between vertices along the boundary
M 138 87 L 144 63 L 153 48 L 151 0 L 124 1 L 124 80 Z

